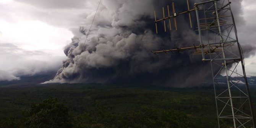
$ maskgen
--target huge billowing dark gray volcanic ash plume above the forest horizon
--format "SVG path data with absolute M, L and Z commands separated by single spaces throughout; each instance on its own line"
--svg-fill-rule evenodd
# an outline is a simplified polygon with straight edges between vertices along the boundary
M 186 7 L 185 0 L 176 3 Z M 65 47 L 68 59 L 63 61 L 55 78 L 48 82 L 185 87 L 201 84 L 199 79 L 211 78 L 210 67 L 201 62 L 201 56 L 192 57 L 188 52 L 158 56 L 151 53 L 172 49 L 174 44 L 178 47 L 199 44 L 198 35 L 189 29 L 182 16 L 178 18 L 178 31 L 155 34 L 152 12 L 154 7 L 161 9 L 164 5 L 164 0 L 104 0 L 84 48 L 93 13 L 87 16 L 86 25 L 79 28 L 83 35 L 73 37 Z

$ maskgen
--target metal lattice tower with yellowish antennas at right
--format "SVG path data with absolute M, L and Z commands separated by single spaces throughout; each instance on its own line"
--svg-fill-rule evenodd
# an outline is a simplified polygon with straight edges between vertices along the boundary
M 175 49 L 152 51 L 152 53 L 158 55 L 162 52 L 194 50 L 192 55 L 201 55 L 202 61 L 211 65 L 209 71 L 212 72 L 218 127 L 255 128 L 243 51 L 238 42 L 237 29 L 230 8 L 231 2 L 208 0 L 194 3 L 194 8 L 191 10 L 188 0 L 186 2 L 188 10 L 180 13 L 175 13 L 174 3 L 172 3 L 172 14 L 167 6 L 168 16 L 165 16 L 163 7 L 162 19 L 156 19 L 156 11 L 154 11 L 156 32 L 158 33 L 158 22 L 164 22 L 164 30 L 167 31 L 166 20 L 169 21 L 169 29 L 172 30 L 170 19 L 174 20 L 174 27 L 177 30 L 176 18 L 185 13 L 188 13 L 192 28 L 190 13 L 195 12 L 197 21 L 195 28 L 199 35 L 199 41 L 195 44 L 198 44 L 183 48 L 175 45 Z

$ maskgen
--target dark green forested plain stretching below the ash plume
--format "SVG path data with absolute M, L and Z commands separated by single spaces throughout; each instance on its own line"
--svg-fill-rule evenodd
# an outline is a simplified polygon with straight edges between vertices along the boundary
M 217 128 L 212 87 L 0 87 L 0 103 L 0 128 Z

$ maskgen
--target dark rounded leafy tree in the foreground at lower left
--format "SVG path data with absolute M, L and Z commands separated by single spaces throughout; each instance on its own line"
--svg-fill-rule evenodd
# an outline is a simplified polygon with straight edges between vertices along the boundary
M 71 128 L 68 108 L 56 98 L 48 98 L 39 104 L 32 103 L 26 117 L 28 128 Z

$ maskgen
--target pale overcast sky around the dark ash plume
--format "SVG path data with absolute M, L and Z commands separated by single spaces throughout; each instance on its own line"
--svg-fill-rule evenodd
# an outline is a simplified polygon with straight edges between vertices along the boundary
M 102 1 L 106 4 L 108 0 Z M 79 26 L 91 23 L 98 2 L 0 0 L 0 81 L 57 71 L 66 58 L 64 47 L 74 35 L 79 36 Z M 243 0 L 241 10 L 244 20 L 237 23 L 238 39 L 241 44 L 255 46 L 256 0 Z M 256 76 L 255 65 L 255 55 L 245 59 L 248 76 Z

